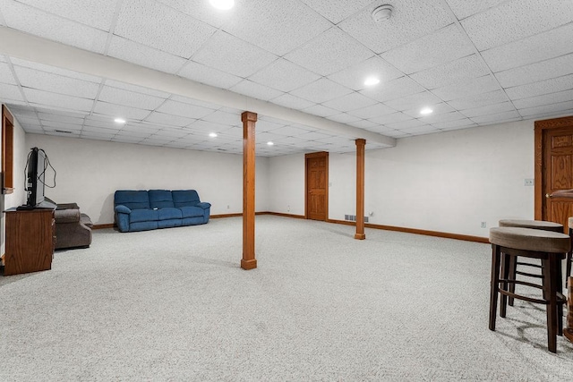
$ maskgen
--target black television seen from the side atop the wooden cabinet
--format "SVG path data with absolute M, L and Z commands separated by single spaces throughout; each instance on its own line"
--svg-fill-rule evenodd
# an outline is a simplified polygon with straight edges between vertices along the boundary
M 27 208 L 56 208 L 52 202 L 45 200 L 47 164 L 46 152 L 43 149 L 30 149 L 26 165 Z

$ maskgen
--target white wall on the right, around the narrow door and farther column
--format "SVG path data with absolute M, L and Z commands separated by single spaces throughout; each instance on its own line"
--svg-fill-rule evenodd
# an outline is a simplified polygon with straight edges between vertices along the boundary
M 355 214 L 355 160 L 329 155 L 330 219 Z M 366 150 L 364 209 L 372 224 L 487 237 L 500 218 L 534 218 L 533 177 L 533 121 L 400 139 Z M 304 215 L 304 154 L 270 158 L 269 181 L 271 211 Z

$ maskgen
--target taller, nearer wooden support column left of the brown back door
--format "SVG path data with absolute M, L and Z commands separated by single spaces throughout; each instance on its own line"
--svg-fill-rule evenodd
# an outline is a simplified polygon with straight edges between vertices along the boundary
M 257 259 L 254 256 L 254 126 L 257 122 L 257 114 L 244 112 L 241 120 L 243 121 L 243 259 L 241 267 L 252 269 L 257 267 Z

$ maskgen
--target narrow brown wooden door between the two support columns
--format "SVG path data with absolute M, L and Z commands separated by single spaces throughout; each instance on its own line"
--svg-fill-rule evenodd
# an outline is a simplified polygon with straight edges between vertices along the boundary
M 326 221 L 329 199 L 329 153 L 306 154 L 306 218 Z

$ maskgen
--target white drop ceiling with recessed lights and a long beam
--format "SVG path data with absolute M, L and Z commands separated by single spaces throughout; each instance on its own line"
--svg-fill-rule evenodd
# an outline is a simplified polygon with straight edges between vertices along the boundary
M 573 115 L 571 41 L 570 0 L 0 0 L 0 102 L 25 132 L 234 154 L 249 110 L 259 156 L 346 153 Z

